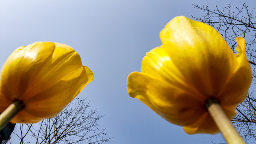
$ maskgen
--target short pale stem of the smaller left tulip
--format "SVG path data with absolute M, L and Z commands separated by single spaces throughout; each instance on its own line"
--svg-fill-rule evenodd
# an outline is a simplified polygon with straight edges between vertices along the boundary
M 15 100 L 0 114 L 0 130 L 8 124 L 8 122 L 25 107 L 22 101 Z

